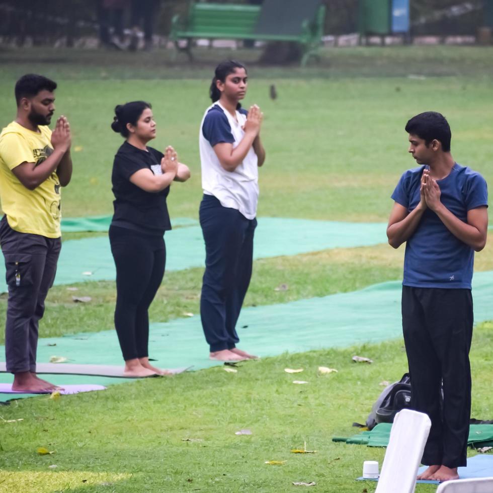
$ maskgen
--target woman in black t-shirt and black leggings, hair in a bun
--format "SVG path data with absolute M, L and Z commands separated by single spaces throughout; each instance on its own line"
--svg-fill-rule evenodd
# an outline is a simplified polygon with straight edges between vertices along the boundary
M 127 376 L 168 372 L 149 363 L 148 308 L 165 273 L 163 235 L 171 229 L 166 197 L 171 182 L 190 178 L 173 147 L 165 153 L 147 142 L 156 135 L 151 106 L 133 101 L 115 108 L 111 128 L 125 137 L 113 162 L 115 213 L 109 236 L 116 265 L 115 328 Z

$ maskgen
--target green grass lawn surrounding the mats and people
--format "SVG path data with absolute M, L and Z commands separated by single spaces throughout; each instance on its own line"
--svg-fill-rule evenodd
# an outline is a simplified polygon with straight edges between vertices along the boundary
M 109 125 L 116 104 L 144 99 L 158 124 L 154 145 L 173 144 L 193 177 L 174 184 L 172 217 L 197 218 L 201 199 L 198 128 L 208 106 L 212 69 L 231 52 L 197 51 L 189 65 L 170 53 L 138 55 L 97 51 L 0 51 L 0 124 L 15 116 L 13 86 L 35 71 L 59 84 L 57 114 L 73 130 L 74 174 L 63 190 L 65 217 L 109 214 L 110 174 L 121 143 Z M 306 69 L 262 67 L 258 52 L 234 56 L 250 62 L 245 104 L 264 113 L 267 161 L 261 170 L 259 216 L 347 221 L 386 221 L 400 174 L 414 166 L 406 154 L 405 122 L 425 110 L 444 113 L 452 127 L 456 160 L 493 178 L 492 48 L 396 47 L 327 49 Z M 412 75 L 412 77 L 409 77 Z M 417 77 L 417 75 L 419 77 Z M 269 99 L 275 84 L 278 99 Z M 100 233 L 98 233 L 100 234 Z M 79 237 L 78 233 L 66 237 Z M 491 238 L 490 238 L 491 239 Z M 296 239 L 293 238 L 293 241 Z M 258 260 L 245 305 L 273 304 L 361 289 L 398 279 L 402 249 L 388 245 L 327 250 Z M 476 270 L 493 269 L 490 244 L 476 256 Z M 202 269 L 167 273 L 151 306 L 152 321 L 198 312 Z M 287 291 L 275 291 L 279 284 Z M 54 287 L 41 322 L 42 336 L 108 330 L 113 325 L 115 284 L 74 285 L 93 297 L 76 304 L 66 286 Z M 0 297 L 0 324 L 6 297 Z M 491 419 L 492 325 L 475 331 L 473 417 Z M 3 334 L 0 336 L 3 343 Z M 204 343 L 204 353 L 206 353 Z M 353 354 L 375 363 L 353 364 Z M 339 373 L 317 376 L 318 365 Z M 301 379 L 285 367 L 305 368 Z M 356 483 L 363 460 L 384 450 L 335 444 L 364 421 L 381 391 L 406 369 L 402 342 L 347 350 L 282 355 L 249 362 L 238 373 L 222 368 L 111 387 L 101 393 L 20 400 L 0 407 L 0 491 L 292 491 L 293 481 L 315 481 L 314 491 L 367 492 Z M 252 436 L 235 436 L 248 428 Z M 185 442 L 183 439 L 200 441 Z M 316 454 L 295 455 L 303 446 Z M 39 456 L 43 446 L 53 455 Z M 270 466 L 266 460 L 286 460 Z M 56 465 L 56 468 L 50 468 Z M 417 491 L 435 491 L 419 485 Z

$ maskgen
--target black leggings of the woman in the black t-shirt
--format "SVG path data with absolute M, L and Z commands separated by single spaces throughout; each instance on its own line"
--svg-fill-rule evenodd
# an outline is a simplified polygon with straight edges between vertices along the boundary
M 110 226 L 109 236 L 116 265 L 115 328 L 123 359 L 145 358 L 147 310 L 165 274 L 165 240 L 117 226 Z

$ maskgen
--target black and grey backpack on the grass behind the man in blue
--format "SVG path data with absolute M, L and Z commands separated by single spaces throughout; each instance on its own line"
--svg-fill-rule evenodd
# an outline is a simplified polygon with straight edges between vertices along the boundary
M 379 423 L 393 423 L 394 416 L 411 403 L 411 379 L 404 373 L 398 382 L 387 385 L 373 404 L 371 413 L 366 420 L 369 430 Z

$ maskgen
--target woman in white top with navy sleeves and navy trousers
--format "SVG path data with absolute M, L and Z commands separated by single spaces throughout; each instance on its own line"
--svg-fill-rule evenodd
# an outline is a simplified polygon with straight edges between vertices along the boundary
M 200 299 L 210 358 L 239 361 L 255 356 L 235 347 L 235 325 L 252 276 L 257 226 L 258 168 L 265 160 L 260 140 L 263 113 L 247 112 L 247 70 L 228 60 L 215 70 L 212 106 L 200 125 L 199 149 L 204 197 L 200 225 L 205 240 L 205 273 Z

